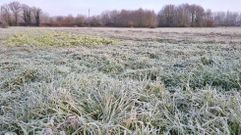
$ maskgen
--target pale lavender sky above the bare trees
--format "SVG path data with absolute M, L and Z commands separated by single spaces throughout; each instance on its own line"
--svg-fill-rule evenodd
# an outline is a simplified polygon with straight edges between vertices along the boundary
M 13 0 L 0 0 L 0 5 Z M 96 15 L 105 10 L 113 9 L 151 9 L 158 12 L 167 4 L 198 4 L 212 11 L 239 11 L 241 0 L 17 0 L 30 6 L 36 6 L 48 12 L 49 15 Z

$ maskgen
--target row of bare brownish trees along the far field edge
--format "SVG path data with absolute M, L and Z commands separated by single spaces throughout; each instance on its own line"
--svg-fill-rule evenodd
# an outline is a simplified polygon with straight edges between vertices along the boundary
M 238 12 L 212 12 L 195 4 L 166 5 L 153 10 L 113 10 L 96 16 L 49 16 L 40 8 L 19 2 L 0 7 L 0 24 L 9 26 L 53 27 L 214 27 L 241 26 Z

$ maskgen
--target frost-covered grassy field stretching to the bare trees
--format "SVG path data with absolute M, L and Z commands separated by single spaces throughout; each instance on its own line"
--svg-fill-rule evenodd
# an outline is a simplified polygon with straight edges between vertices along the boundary
M 241 28 L 0 29 L 0 134 L 239 135 Z

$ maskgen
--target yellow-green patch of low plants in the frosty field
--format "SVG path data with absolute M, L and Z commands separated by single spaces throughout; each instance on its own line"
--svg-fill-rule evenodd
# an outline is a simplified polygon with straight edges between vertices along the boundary
M 113 45 L 118 41 L 110 38 L 73 34 L 69 32 L 16 33 L 5 39 L 8 46 L 31 45 L 37 47 L 99 46 Z

